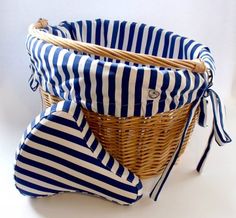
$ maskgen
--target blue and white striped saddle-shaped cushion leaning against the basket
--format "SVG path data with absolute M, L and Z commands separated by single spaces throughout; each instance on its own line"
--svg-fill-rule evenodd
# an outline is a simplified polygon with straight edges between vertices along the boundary
M 62 101 L 38 115 L 16 154 L 15 182 L 31 197 L 83 192 L 119 204 L 142 197 L 142 183 L 111 157 L 76 103 Z

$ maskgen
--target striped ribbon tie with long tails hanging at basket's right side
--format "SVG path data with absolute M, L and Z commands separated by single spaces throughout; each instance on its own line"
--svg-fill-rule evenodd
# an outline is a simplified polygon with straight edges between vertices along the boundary
M 212 90 L 210 88 L 208 88 L 206 90 L 205 95 L 200 100 L 199 125 L 206 126 L 206 119 L 207 119 L 207 99 L 206 98 L 207 97 L 210 97 L 210 100 L 212 103 L 213 128 L 212 128 L 211 134 L 208 139 L 207 147 L 206 147 L 206 149 L 205 149 L 205 151 L 204 151 L 204 153 L 197 165 L 196 170 L 198 172 L 201 172 L 201 170 L 202 170 L 202 166 L 205 163 L 206 157 L 210 151 L 213 137 L 215 138 L 215 141 L 217 142 L 217 144 L 219 146 L 222 146 L 226 143 L 231 142 L 231 138 L 229 137 L 229 135 L 225 131 L 225 127 L 224 127 L 224 115 L 223 115 L 222 103 L 221 103 L 220 97 L 218 96 L 218 94 L 214 90 Z M 159 194 L 160 194 L 160 192 L 161 192 L 161 190 L 162 190 L 162 188 L 163 188 L 163 186 L 164 186 L 164 184 L 171 172 L 171 169 L 174 166 L 174 164 L 179 156 L 179 153 L 180 153 L 183 141 L 184 141 L 184 137 L 187 133 L 188 127 L 191 123 L 194 113 L 199 105 L 198 103 L 199 103 L 199 101 L 193 103 L 190 114 L 189 114 L 188 121 L 186 123 L 185 129 L 184 129 L 181 141 L 180 141 L 180 144 L 177 147 L 177 149 L 176 149 L 175 153 L 173 154 L 171 160 L 169 161 L 168 165 L 166 166 L 161 177 L 158 179 L 156 185 L 154 186 L 154 188 L 152 189 L 152 191 L 150 193 L 150 198 L 152 198 L 154 201 L 156 201 L 158 199 L 158 196 L 159 196 Z

